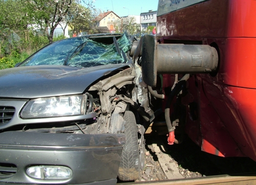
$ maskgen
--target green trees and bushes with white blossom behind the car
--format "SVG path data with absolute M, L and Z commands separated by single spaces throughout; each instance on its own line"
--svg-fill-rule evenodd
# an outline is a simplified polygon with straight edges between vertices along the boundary
M 66 17 L 70 20 L 63 30 L 68 23 L 77 30 L 88 29 L 94 1 L 0 0 L 0 58 L 24 51 L 33 53 L 54 39 L 63 38 L 53 38 L 53 33 Z

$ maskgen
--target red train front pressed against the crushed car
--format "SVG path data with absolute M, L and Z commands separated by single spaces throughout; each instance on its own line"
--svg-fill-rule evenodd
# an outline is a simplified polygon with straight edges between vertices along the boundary
M 184 118 L 181 112 L 185 111 L 184 130 L 205 152 L 256 160 L 255 10 L 254 0 L 159 0 L 155 49 L 162 50 L 165 44 L 209 45 L 218 53 L 218 67 L 209 73 L 189 70 L 179 73 L 179 67 L 169 72 L 157 71 L 158 77 L 163 76 L 164 94 L 169 93 L 165 87 L 173 86 L 174 74 L 179 74 L 176 77 L 180 79 L 189 72 L 185 92 L 183 88 L 183 95 L 177 95 L 180 98 L 175 97 L 169 107 L 170 121 L 178 130 L 182 124 L 177 126 L 174 122 Z M 164 49 L 153 58 L 160 60 L 160 55 L 172 58 L 172 50 L 169 48 L 168 54 Z M 161 64 L 157 65 L 159 68 Z M 143 73 L 147 79 L 148 72 L 144 69 Z M 161 80 L 157 79 L 159 84 Z M 178 110 L 175 104 L 183 108 Z M 172 118 L 172 112 L 176 112 L 177 118 Z

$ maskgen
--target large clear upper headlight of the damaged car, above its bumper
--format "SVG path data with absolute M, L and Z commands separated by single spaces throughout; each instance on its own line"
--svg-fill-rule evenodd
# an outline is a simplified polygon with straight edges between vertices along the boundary
M 84 111 L 83 102 L 82 95 L 30 100 L 20 113 L 20 117 L 30 119 L 81 115 Z

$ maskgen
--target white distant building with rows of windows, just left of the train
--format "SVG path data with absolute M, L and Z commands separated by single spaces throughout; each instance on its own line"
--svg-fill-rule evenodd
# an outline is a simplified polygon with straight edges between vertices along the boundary
M 149 26 L 156 26 L 157 11 L 148 11 L 140 14 L 141 31 L 147 31 Z

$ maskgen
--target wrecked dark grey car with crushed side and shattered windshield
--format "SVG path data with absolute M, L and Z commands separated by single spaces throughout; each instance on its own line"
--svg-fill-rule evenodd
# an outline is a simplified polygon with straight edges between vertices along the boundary
M 0 183 L 139 178 L 157 109 L 133 58 L 137 45 L 127 34 L 73 37 L 1 70 Z

